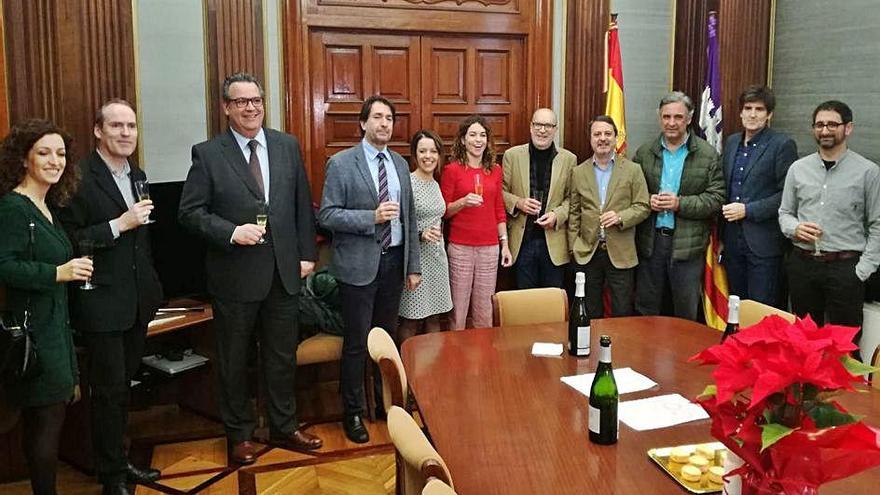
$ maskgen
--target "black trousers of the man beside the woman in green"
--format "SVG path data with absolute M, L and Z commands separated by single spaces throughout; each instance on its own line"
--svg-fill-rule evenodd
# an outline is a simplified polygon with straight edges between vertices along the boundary
M 84 334 L 95 473 L 101 483 L 125 480 L 130 383 L 140 366 L 146 335 L 140 324 L 123 332 Z

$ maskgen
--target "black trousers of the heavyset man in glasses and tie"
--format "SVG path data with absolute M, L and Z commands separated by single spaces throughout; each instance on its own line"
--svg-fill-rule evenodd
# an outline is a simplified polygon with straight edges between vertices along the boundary
M 247 372 L 254 336 L 266 384 L 269 434 L 286 437 L 299 427 L 294 398 L 298 312 L 299 296 L 287 293 L 277 269 L 262 301 L 214 299 L 220 414 L 232 443 L 251 440 L 257 424 Z

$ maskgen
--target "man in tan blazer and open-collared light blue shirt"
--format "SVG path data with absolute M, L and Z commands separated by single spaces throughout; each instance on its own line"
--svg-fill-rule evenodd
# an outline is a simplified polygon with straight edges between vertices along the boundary
M 617 126 L 607 115 L 590 122 L 593 156 L 571 173 L 568 243 L 575 269 L 587 277 L 587 311 L 604 314 L 602 291 L 611 289 L 611 315 L 633 314 L 635 226 L 648 218 L 648 186 L 638 164 L 616 155 Z

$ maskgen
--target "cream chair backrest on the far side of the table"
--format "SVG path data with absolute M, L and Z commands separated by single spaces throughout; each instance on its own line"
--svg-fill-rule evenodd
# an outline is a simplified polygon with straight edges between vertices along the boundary
M 492 296 L 496 326 L 568 321 L 568 296 L 555 287 L 505 290 Z

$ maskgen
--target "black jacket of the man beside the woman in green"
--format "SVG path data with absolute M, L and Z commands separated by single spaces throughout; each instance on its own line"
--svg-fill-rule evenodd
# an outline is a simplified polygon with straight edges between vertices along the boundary
M 131 166 L 131 184 L 146 180 Z M 153 268 L 150 229 L 140 226 L 113 239 L 110 220 L 128 210 L 110 169 L 97 151 L 79 163 L 80 183 L 59 217 L 74 245 L 89 239 L 95 250 L 92 283 L 96 288 L 70 291 L 74 328 L 83 332 L 119 332 L 137 323 L 146 327 L 162 305 L 162 286 Z M 132 192 L 132 196 L 137 195 Z

